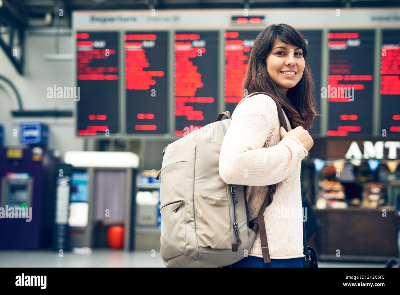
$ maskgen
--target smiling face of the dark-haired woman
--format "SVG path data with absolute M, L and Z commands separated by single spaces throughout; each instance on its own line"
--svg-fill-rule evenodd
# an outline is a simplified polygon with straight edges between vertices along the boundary
M 275 40 L 266 58 L 267 71 L 272 81 L 286 94 L 303 76 L 305 61 L 303 50 L 291 44 Z

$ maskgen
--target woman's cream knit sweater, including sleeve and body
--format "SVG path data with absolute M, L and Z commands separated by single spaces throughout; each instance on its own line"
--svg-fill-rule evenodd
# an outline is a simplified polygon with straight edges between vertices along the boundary
M 232 114 L 221 147 L 219 172 L 224 182 L 247 186 L 249 220 L 257 217 L 268 192 L 266 186 L 277 184 L 264 212 L 270 258 L 304 257 L 300 168 L 308 152 L 292 135 L 281 139 L 279 129 L 278 110 L 271 97 L 257 94 L 246 98 Z M 260 232 L 248 255 L 262 257 Z

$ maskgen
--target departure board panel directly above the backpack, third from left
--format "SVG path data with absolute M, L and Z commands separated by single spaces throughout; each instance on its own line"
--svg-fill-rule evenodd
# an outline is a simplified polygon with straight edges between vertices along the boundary
M 218 115 L 218 31 L 174 34 L 174 135 L 186 135 Z

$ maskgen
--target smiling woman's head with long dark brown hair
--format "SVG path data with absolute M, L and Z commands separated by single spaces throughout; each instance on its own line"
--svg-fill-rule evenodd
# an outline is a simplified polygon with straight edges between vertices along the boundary
M 293 128 L 302 126 L 310 132 L 319 115 L 307 52 L 304 36 L 292 26 L 266 27 L 254 41 L 242 88 L 248 94 L 269 93 L 287 111 Z

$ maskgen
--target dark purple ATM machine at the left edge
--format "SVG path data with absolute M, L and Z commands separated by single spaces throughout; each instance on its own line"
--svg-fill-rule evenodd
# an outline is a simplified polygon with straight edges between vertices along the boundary
M 0 148 L 0 249 L 51 247 L 55 164 L 46 147 Z

